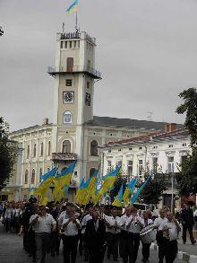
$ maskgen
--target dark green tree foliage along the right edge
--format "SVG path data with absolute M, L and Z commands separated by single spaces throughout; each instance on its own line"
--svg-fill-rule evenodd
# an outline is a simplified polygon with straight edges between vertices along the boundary
M 177 107 L 178 114 L 186 114 L 184 126 L 191 136 L 192 154 L 182 164 L 182 171 L 176 176 L 181 196 L 197 192 L 197 92 L 189 88 L 179 94 L 184 103 Z

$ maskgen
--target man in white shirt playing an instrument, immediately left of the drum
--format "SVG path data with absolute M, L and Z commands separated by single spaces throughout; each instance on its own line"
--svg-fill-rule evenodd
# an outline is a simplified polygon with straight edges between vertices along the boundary
M 136 208 L 132 209 L 132 215 L 127 218 L 125 227 L 128 231 L 129 262 L 135 263 L 140 245 L 140 231 L 143 228 L 141 217 L 137 215 Z

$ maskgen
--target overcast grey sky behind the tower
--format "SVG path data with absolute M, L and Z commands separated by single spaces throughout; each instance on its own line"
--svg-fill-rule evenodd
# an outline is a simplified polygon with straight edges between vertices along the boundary
M 11 130 L 53 122 L 56 32 L 73 0 L 0 0 L 0 116 Z M 97 39 L 94 115 L 184 122 L 178 94 L 197 83 L 197 0 L 79 0 Z

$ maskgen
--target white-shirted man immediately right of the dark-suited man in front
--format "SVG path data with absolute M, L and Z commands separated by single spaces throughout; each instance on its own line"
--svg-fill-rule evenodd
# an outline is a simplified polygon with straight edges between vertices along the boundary
M 107 259 L 112 254 L 114 261 L 118 259 L 118 242 L 120 233 L 120 217 L 117 216 L 116 207 L 111 209 L 111 216 L 105 217 L 107 232 Z

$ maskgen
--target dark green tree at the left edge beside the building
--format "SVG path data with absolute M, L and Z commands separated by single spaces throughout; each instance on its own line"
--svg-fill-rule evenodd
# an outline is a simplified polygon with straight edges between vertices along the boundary
M 0 190 L 12 176 L 16 157 L 16 145 L 9 140 L 8 130 L 8 124 L 0 117 Z

